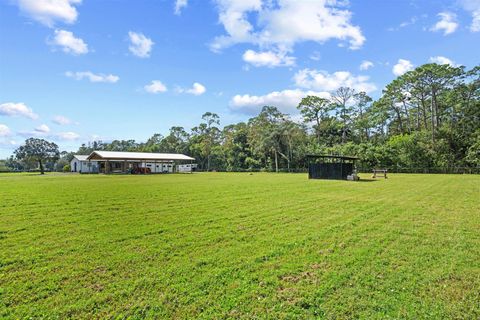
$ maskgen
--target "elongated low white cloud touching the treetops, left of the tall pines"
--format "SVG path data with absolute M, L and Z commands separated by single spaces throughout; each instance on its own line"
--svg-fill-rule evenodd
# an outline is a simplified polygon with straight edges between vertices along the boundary
M 230 100 L 230 109 L 245 114 L 257 114 L 263 106 L 271 105 L 282 112 L 296 112 L 296 108 L 302 98 L 307 95 L 315 95 L 330 98 L 328 92 L 304 91 L 300 89 L 274 91 L 265 95 L 235 95 Z

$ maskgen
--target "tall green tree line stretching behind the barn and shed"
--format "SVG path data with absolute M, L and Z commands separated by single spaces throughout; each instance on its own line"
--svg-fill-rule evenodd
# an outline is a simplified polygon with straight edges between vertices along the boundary
M 190 131 L 174 126 L 146 142 L 94 141 L 75 153 L 184 153 L 207 171 L 305 170 L 308 154 L 358 156 L 363 169 L 480 168 L 480 66 L 425 64 L 397 77 L 377 100 L 341 87 L 329 98 L 307 96 L 297 108 L 300 121 L 264 106 L 248 121 L 223 128 L 217 114 L 206 112 Z M 59 153 L 53 166 L 72 154 Z M 22 164 L 17 152 L 6 163 L 15 164 Z

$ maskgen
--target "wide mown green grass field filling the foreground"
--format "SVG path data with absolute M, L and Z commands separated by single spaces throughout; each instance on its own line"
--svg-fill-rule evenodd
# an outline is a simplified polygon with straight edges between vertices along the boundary
M 480 177 L 3 174 L 0 318 L 30 317 L 479 319 Z

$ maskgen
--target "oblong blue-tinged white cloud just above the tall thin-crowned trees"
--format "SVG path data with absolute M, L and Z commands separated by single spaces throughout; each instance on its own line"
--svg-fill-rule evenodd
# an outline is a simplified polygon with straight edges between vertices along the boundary
M 303 69 L 298 71 L 293 79 L 298 87 L 316 91 L 333 91 L 340 87 L 350 87 L 369 93 L 377 89 L 375 84 L 369 82 L 368 76 L 354 76 L 348 71 L 330 74 L 326 71 Z

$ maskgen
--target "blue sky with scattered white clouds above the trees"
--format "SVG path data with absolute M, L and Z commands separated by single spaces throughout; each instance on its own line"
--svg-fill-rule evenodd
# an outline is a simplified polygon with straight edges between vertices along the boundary
M 0 157 L 145 141 L 306 94 L 378 97 L 415 66 L 479 63 L 480 0 L 0 0 Z

